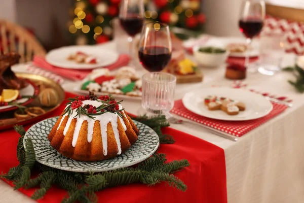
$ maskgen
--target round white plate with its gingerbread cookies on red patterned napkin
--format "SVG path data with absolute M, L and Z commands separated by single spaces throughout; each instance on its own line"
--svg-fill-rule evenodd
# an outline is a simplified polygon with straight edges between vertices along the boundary
M 198 115 L 227 121 L 253 120 L 268 115 L 273 105 L 262 95 L 243 89 L 210 87 L 188 92 L 184 107 Z

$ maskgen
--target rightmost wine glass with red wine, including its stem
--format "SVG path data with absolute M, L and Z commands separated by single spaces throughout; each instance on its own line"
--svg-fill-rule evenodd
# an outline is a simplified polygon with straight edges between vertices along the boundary
M 243 0 L 241 7 L 241 14 L 239 20 L 240 31 L 246 37 L 247 51 L 245 56 L 245 66 L 249 72 L 249 49 L 251 47 L 252 39 L 257 36 L 263 27 L 265 19 L 265 2 L 263 0 Z

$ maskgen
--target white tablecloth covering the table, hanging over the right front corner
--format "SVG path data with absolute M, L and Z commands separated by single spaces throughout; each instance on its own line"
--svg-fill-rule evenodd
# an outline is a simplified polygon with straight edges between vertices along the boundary
M 114 43 L 102 45 L 115 49 Z M 285 64 L 293 63 L 293 56 L 286 55 Z M 21 68 L 21 67 L 20 67 Z M 143 71 L 143 70 L 142 70 Z M 204 82 L 178 84 L 176 99 L 185 92 L 211 85 L 231 85 L 224 79 L 224 66 L 203 69 Z M 300 203 L 304 202 L 304 95 L 298 94 L 287 83 L 290 73 L 275 76 L 248 74 L 248 88 L 287 96 L 293 107 L 232 142 L 206 131 L 196 124 L 173 124 L 172 127 L 204 139 L 224 149 L 229 203 Z M 64 89 L 72 91 L 74 83 L 66 81 Z M 137 113 L 140 101 L 124 100 L 130 113 Z M 0 181 L 0 202 L 31 202 L 18 191 Z M 216 203 L 216 202 L 210 202 Z

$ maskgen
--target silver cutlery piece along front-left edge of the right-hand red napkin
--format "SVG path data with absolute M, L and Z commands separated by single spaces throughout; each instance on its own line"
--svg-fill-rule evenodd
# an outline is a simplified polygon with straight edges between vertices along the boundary
M 166 119 L 169 121 L 169 123 L 182 124 L 183 122 L 188 122 L 188 123 L 198 124 L 198 125 L 206 128 L 208 131 L 212 132 L 213 134 L 216 134 L 217 136 L 220 136 L 222 138 L 225 138 L 225 139 L 228 139 L 228 140 L 231 140 L 231 141 L 234 141 L 234 142 L 238 141 L 238 139 L 236 137 L 232 136 L 231 134 L 228 134 L 226 132 L 214 129 L 212 127 L 209 127 L 209 126 L 206 126 L 206 125 L 203 125 L 203 124 L 199 124 L 195 121 L 178 119 L 175 116 L 173 116 L 170 112 L 165 112 L 164 115 L 165 115 Z

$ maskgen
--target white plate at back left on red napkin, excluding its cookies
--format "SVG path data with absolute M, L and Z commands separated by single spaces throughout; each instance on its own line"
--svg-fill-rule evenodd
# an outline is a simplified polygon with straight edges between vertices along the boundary
M 73 60 L 67 60 L 70 54 L 81 51 L 97 58 L 96 64 L 77 63 Z M 96 69 L 115 63 L 119 58 L 119 54 L 115 51 L 103 49 L 98 46 L 68 46 L 61 47 L 50 51 L 46 55 L 46 60 L 58 67 L 65 69 Z

